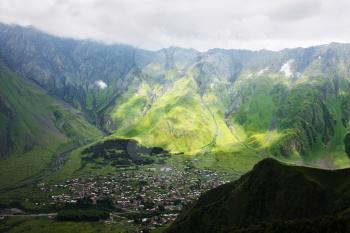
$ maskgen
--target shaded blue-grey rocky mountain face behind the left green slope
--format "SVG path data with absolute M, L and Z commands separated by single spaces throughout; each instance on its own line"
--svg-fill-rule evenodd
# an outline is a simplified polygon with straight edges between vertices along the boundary
M 63 39 L 32 27 L 1 24 L 0 41 L 1 57 L 11 69 L 94 118 L 127 87 L 135 54 L 143 57 L 130 46 Z M 99 91 L 106 83 L 113 93 Z

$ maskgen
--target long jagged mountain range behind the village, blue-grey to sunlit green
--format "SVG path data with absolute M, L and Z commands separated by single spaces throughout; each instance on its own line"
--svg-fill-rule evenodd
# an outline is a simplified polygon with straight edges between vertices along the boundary
M 5 24 L 0 43 L 6 66 L 114 137 L 173 153 L 349 165 L 348 44 L 147 51 Z

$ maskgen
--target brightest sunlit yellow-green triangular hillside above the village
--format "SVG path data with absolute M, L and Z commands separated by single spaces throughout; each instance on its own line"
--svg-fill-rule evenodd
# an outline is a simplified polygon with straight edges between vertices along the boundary
M 134 98 L 128 99 L 112 113 L 121 123 L 116 135 L 134 137 L 146 145 L 162 146 L 174 152 L 193 153 L 213 143 L 219 134 L 218 123 L 196 94 L 196 85 L 190 77 L 175 81 L 166 93 L 151 103 L 149 109 L 133 118 L 133 113 L 142 109 L 140 98 L 138 102 Z M 144 108 L 146 104 L 145 100 Z M 129 119 L 134 119 L 134 122 L 129 122 Z M 235 139 L 227 135 L 226 140 L 219 142 L 222 141 L 228 144 Z

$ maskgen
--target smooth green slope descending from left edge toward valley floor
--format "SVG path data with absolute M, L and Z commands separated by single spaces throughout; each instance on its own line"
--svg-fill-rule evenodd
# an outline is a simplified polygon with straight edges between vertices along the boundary
M 0 63 L 1 193 L 30 182 L 51 164 L 54 171 L 60 152 L 101 136 L 77 110 Z

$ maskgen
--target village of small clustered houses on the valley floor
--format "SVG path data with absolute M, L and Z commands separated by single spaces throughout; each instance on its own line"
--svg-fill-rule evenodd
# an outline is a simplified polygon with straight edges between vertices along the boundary
M 38 187 L 48 193 L 52 205 L 75 204 L 86 197 L 95 204 L 107 198 L 118 210 L 110 213 L 107 222 L 127 221 L 147 232 L 173 222 L 200 194 L 231 179 L 229 173 L 160 166 L 71 179 L 54 185 L 41 183 Z

